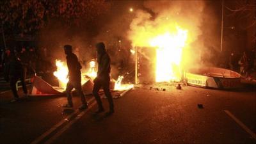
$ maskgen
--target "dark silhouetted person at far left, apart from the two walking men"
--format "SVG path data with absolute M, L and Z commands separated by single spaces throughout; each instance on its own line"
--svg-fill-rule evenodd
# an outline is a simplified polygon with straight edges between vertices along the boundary
M 17 88 L 16 88 L 16 83 L 19 80 L 20 80 L 20 83 L 22 84 L 22 89 L 25 94 L 25 97 L 27 97 L 28 90 L 26 88 L 26 84 L 24 81 L 22 64 L 19 58 L 15 56 L 14 52 L 10 53 L 10 61 L 5 65 L 4 78 L 6 79 L 6 81 L 10 81 L 10 87 L 12 89 L 12 93 L 14 96 L 14 99 L 11 102 L 19 101 L 19 95 L 17 93 Z

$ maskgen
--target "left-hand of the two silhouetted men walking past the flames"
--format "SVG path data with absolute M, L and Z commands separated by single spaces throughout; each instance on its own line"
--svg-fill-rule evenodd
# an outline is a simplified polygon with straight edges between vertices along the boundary
M 68 104 L 65 104 L 64 108 L 72 108 L 72 95 L 71 91 L 73 88 L 76 89 L 77 94 L 81 97 L 82 105 L 79 107 L 80 110 L 88 108 L 84 93 L 81 86 L 81 64 L 77 60 L 76 54 L 72 52 L 71 45 L 64 46 L 65 54 L 67 55 L 67 66 L 68 66 L 68 83 L 66 88 Z

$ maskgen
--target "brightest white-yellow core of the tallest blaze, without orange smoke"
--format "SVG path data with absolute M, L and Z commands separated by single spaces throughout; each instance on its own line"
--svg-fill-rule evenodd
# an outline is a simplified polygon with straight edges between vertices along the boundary
M 180 81 L 182 77 L 182 49 L 186 45 L 188 31 L 177 26 L 177 31 L 169 31 L 150 40 L 156 49 L 156 82 Z

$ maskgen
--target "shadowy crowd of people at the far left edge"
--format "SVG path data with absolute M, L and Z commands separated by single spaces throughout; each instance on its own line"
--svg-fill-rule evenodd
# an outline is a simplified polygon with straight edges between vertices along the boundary
M 35 47 L 21 47 L 20 49 L 6 48 L 1 51 L 0 69 L 4 79 L 10 84 L 14 99 L 12 102 L 19 100 L 17 93 L 17 81 L 20 81 L 25 97 L 28 96 L 26 89 L 27 74 L 35 74 L 38 71 L 46 70 L 49 65 L 47 53 L 36 52 Z M 49 68 L 49 67 L 48 67 Z

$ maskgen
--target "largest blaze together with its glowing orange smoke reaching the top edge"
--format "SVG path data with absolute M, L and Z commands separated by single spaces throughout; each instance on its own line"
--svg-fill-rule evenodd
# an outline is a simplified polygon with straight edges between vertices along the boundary
M 205 2 L 145 1 L 144 4 L 152 12 L 136 10 L 127 37 L 132 47 L 156 49 L 156 57 L 150 61 L 155 64 L 152 71 L 156 82 L 180 81 L 184 68 L 198 63 L 200 49 L 204 48 L 204 38 L 200 36 Z

